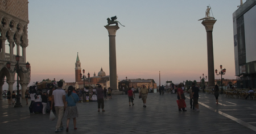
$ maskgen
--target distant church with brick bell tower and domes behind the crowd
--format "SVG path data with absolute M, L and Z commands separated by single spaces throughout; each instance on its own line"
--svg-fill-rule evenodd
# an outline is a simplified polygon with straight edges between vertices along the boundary
M 68 89 L 68 86 L 73 86 L 76 89 L 82 89 L 84 87 L 84 85 L 85 85 L 85 87 L 88 87 L 88 86 L 96 86 L 96 84 L 100 84 L 102 86 L 102 88 L 106 87 L 106 89 L 108 89 L 108 87 L 110 87 L 110 77 L 106 76 L 106 73 L 103 71 L 102 68 L 101 68 L 100 72 L 98 72 L 98 76 L 96 76 L 95 72 L 93 74 L 93 77 L 90 77 L 89 72 L 86 77 L 86 73 L 85 73 L 85 80 L 82 79 L 81 76 L 84 76 L 84 73 L 82 73 L 81 62 L 79 60 L 79 55 L 77 53 L 76 63 L 75 63 L 75 80 L 76 80 L 76 82 L 65 83 L 65 89 Z M 118 82 L 119 81 L 117 80 L 117 85 L 118 85 Z

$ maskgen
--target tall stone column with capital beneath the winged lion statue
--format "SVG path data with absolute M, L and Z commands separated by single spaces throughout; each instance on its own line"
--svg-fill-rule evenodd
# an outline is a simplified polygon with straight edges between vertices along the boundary
M 117 58 L 115 56 L 115 33 L 119 29 L 118 26 L 105 26 L 109 32 L 109 76 L 110 87 L 117 90 Z

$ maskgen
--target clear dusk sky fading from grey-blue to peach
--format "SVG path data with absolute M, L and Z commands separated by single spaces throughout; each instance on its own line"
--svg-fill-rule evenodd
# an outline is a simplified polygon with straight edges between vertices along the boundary
M 224 78 L 236 79 L 232 14 L 240 0 L 32 0 L 26 49 L 30 85 L 47 78 L 75 82 L 77 52 L 86 74 L 98 74 L 102 67 L 109 75 L 109 37 L 104 26 L 115 15 L 125 26 L 119 26 L 115 37 L 118 79 L 154 79 L 159 85 L 160 71 L 161 85 L 200 81 L 203 73 L 208 76 L 207 33 L 198 20 L 205 17 L 209 5 L 210 16 L 217 19 L 214 69 L 222 65 Z

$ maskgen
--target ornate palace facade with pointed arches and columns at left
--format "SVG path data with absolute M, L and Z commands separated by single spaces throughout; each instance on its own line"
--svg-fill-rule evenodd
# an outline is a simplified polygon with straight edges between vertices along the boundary
M 28 20 L 28 1 L 27 0 L 8 0 L 0 1 L 0 94 L 2 94 L 3 83 L 7 82 L 9 91 L 13 91 L 15 72 L 7 69 L 7 62 L 10 62 L 10 70 L 14 70 L 16 56 L 19 58 L 19 66 L 26 70 L 26 48 L 28 46 L 27 26 Z M 9 47 L 9 52 L 6 48 Z M 14 52 L 16 51 L 16 55 Z M 30 69 L 28 73 L 19 72 L 19 83 L 22 89 L 22 98 L 25 98 L 25 91 L 30 83 Z M 6 78 L 6 80 L 5 80 Z M 2 99 L 2 95 L 0 95 Z

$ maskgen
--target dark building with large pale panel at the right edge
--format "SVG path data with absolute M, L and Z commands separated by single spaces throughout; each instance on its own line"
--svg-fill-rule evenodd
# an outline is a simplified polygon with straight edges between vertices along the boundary
M 233 13 L 234 59 L 237 88 L 256 87 L 256 0 L 238 6 Z

